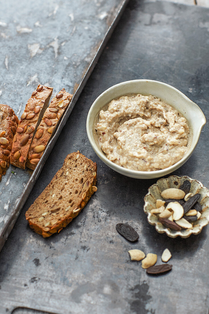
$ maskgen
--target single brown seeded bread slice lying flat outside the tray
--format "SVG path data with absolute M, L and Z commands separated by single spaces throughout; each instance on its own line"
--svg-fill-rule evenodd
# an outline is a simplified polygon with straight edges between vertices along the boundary
M 44 238 L 60 232 L 97 190 L 97 165 L 79 151 L 67 155 L 49 185 L 25 213 L 29 226 Z

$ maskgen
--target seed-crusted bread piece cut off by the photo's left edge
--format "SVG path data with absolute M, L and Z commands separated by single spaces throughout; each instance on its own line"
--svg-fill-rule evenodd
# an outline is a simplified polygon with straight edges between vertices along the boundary
M 8 105 L 0 104 L 0 181 L 10 164 L 13 137 L 18 126 L 18 117 Z

